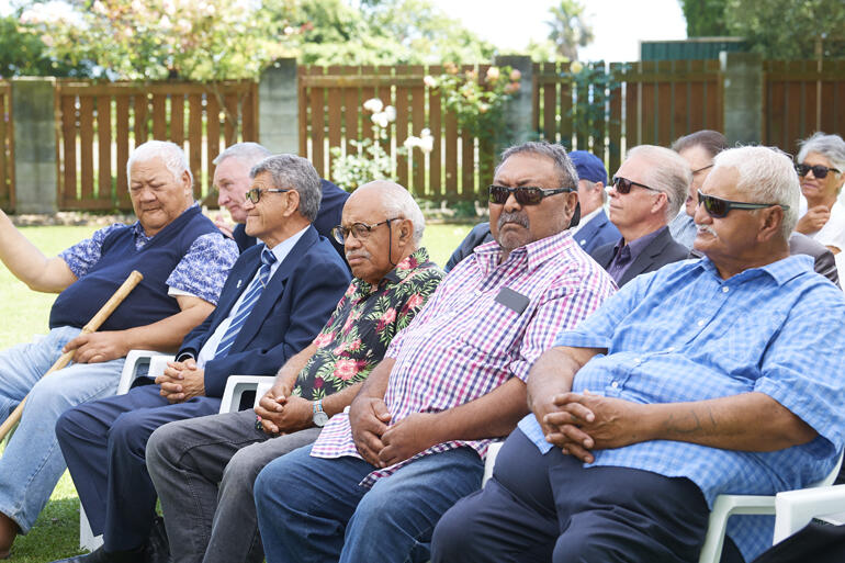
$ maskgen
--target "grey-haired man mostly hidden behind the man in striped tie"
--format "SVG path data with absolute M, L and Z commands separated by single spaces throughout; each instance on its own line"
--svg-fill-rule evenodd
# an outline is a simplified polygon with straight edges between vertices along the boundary
M 223 217 L 217 217 L 215 224 L 228 237 L 235 239 L 243 252 L 251 248 L 257 239 L 246 233 L 247 213 L 244 210 L 244 194 L 249 189 L 249 170 L 259 161 L 271 155 L 270 150 L 258 143 L 238 143 L 232 145 L 214 159 L 214 187 L 217 189 L 217 204 L 229 211 L 230 225 Z M 317 218 L 312 223 L 317 233 L 331 243 L 331 246 L 343 256 L 343 246 L 338 245 L 331 237 L 331 228 L 340 222 L 340 213 L 343 210 L 349 193 L 345 192 L 328 180 L 320 179 L 323 199 L 319 203 Z

